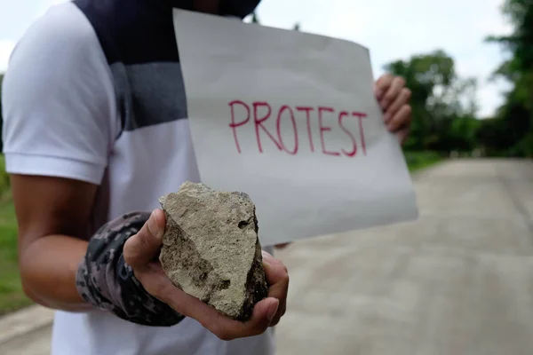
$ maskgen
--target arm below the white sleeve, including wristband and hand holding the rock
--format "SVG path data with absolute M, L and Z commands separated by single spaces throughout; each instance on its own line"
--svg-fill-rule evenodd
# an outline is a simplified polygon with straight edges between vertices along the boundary
M 37 303 L 69 312 L 87 311 L 91 304 L 103 309 L 110 306 L 110 310 L 115 310 L 115 314 L 124 319 L 153 326 L 176 324 L 183 315 L 196 319 L 224 340 L 259 335 L 279 322 L 285 312 L 289 276 L 286 267 L 267 254 L 263 257 L 269 283 L 268 297 L 256 304 L 252 318 L 246 323 L 227 319 L 211 306 L 174 287 L 164 275 L 161 264 L 154 262 L 163 243 L 166 224 L 162 210 L 152 213 L 139 232 L 131 237 L 121 236 L 120 232 L 112 233 L 114 228 L 107 224 L 107 228 L 99 231 L 104 235 L 95 240 L 99 245 L 98 250 L 93 249 L 96 255 L 87 258 L 91 254 L 87 252 L 90 244 L 79 238 L 87 231 L 96 190 L 96 185 L 74 179 L 12 175 L 13 199 L 20 226 L 22 284 L 27 295 Z M 105 248 L 114 241 L 125 241 L 123 253 L 117 255 L 118 249 L 112 252 Z M 110 257 L 110 253 L 115 256 Z M 80 296 L 76 281 L 79 284 L 79 271 L 88 272 L 87 262 L 94 262 L 94 257 L 106 259 L 113 265 L 110 265 L 111 272 L 93 274 L 82 281 L 85 289 L 96 292 L 96 297 L 87 296 L 90 304 Z M 115 264 L 122 257 L 127 265 Z M 107 266 L 102 265 L 105 269 Z M 135 286 L 136 281 L 128 275 L 123 283 L 118 281 L 116 271 L 128 273 L 130 267 L 142 286 Z M 105 289 L 110 284 L 115 285 L 111 294 Z M 120 289 L 122 287 L 128 290 Z M 111 304 L 101 304 L 99 296 L 105 296 L 106 303 Z M 136 304 L 133 309 L 129 307 L 131 302 Z M 143 310 L 147 303 L 154 306 L 147 307 L 148 312 Z M 172 309 L 177 313 L 171 314 Z

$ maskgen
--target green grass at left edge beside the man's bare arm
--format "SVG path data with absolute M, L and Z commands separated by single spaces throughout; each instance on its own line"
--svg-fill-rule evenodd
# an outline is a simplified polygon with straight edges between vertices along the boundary
M 32 302 L 20 284 L 17 256 L 17 218 L 9 179 L 5 179 L 4 157 L 0 158 L 0 315 L 18 310 Z

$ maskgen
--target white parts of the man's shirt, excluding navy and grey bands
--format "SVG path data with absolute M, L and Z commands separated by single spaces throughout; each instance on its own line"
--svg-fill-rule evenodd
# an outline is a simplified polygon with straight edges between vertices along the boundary
M 60 4 L 17 44 L 2 98 L 7 171 L 97 184 L 107 220 L 158 208 L 159 196 L 199 180 L 187 118 L 123 130 L 128 113 L 114 75 L 91 22 L 75 4 Z M 52 355 L 272 353 L 271 329 L 224 342 L 194 319 L 145 327 L 107 312 L 56 312 L 52 334 Z

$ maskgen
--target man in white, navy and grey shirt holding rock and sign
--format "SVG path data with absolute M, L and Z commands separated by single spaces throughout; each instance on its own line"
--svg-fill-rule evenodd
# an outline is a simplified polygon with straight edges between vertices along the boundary
M 258 3 L 76 0 L 53 7 L 13 51 L 4 154 L 23 287 L 58 310 L 52 354 L 274 353 L 282 262 L 264 253 L 268 297 L 241 323 L 174 288 L 156 261 L 157 198 L 199 180 L 171 8 L 243 19 Z M 403 86 L 391 75 L 376 84 L 400 139 L 410 122 Z

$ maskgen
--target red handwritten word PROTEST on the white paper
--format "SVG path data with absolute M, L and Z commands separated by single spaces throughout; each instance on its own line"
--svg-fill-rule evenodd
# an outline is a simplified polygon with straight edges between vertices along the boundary
M 251 124 L 255 130 L 255 137 L 258 142 L 259 153 L 263 153 L 263 139 L 267 138 L 269 142 L 280 151 L 287 154 L 296 155 L 303 148 L 308 148 L 314 153 L 316 141 L 320 142 L 320 151 L 325 155 L 340 156 L 344 155 L 353 158 L 361 149 L 362 154 L 366 155 L 366 146 L 364 141 L 364 128 L 362 120 L 367 116 L 358 111 L 338 111 L 333 107 L 327 106 L 289 106 L 282 105 L 279 109 L 273 111 L 268 102 L 255 101 L 251 105 L 240 100 L 234 100 L 229 103 L 231 111 L 231 123 L 229 127 L 233 130 L 235 138 L 235 148 L 237 152 L 242 153 L 239 144 L 238 129 L 245 125 Z M 267 121 L 275 122 L 275 130 L 270 131 L 267 128 Z M 312 124 L 318 125 L 318 134 L 315 134 Z M 348 120 L 357 122 L 358 131 L 355 132 L 348 128 Z M 282 130 L 282 123 L 289 122 L 290 128 Z M 305 126 L 305 127 L 303 127 Z M 326 145 L 328 141 L 327 132 L 334 126 L 342 130 L 346 137 L 350 139 L 349 146 L 337 147 L 336 150 L 330 150 Z M 299 138 L 301 130 L 306 131 L 306 140 Z M 289 136 L 289 138 L 287 137 Z M 318 136 L 318 137 L 316 137 Z M 290 139 L 290 142 L 287 142 Z

